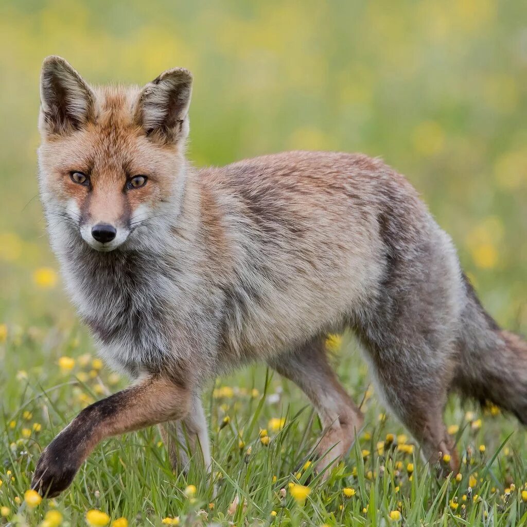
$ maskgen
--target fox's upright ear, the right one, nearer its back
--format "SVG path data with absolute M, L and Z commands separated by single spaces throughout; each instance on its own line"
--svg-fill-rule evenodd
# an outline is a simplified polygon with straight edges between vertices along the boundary
M 184 68 L 167 70 L 139 95 L 135 120 L 147 136 L 162 144 L 181 143 L 189 134 L 192 74 Z

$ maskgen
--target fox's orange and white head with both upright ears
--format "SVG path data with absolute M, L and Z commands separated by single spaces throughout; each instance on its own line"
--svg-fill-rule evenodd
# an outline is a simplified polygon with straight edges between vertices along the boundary
M 163 216 L 178 214 L 191 91 L 182 68 L 124 89 L 90 86 L 63 58 L 44 60 L 39 185 L 56 249 L 72 237 L 97 251 L 148 245 Z

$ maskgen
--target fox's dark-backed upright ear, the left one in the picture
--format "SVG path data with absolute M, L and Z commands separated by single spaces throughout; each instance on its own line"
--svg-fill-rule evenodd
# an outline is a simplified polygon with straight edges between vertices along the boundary
M 42 64 L 40 99 L 41 132 L 66 134 L 90 119 L 95 94 L 69 63 L 52 55 Z

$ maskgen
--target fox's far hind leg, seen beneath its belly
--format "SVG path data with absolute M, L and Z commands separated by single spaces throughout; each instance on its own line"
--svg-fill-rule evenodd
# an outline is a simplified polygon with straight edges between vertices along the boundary
M 328 364 L 324 339 L 281 354 L 269 366 L 297 384 L 317 410 L 324 427 L 317 445 L 317 470 L 324 471 L 349 451 L 363 423 L 362 413 Z

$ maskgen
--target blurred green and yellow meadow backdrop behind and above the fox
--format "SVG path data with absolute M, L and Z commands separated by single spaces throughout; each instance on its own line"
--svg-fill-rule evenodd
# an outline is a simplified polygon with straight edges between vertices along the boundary
M 3 0 L 0 50 L 0 333 L 75 324 L 35 177 L 49 54 L 92 83 L 189 68 L 197 165 L 383 157 L 452 235 L 491 313 L 525 332 L 527 3 Z

